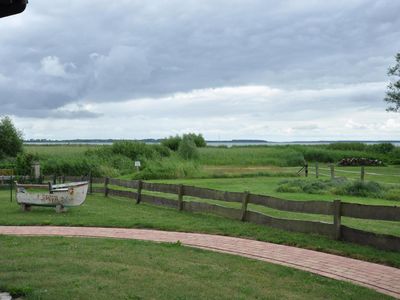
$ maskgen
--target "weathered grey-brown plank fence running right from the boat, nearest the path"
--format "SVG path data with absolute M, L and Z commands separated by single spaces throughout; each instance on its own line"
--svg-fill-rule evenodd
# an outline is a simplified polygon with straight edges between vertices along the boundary
M 102 188 L 94 187 L 92 190 L 94 193 L 104 193 L 106 196 L 126 197 L 135 200 L 138 204 L 143 202 L 188 212 L 210 213 L 229 219 L 267 225 L 283 230 L 316 233 L 333 239 L 372 246 L 383 250 L 400 251 L 400 237 L 398 236 L 377 234 L 341 224 L 341 217 L 400 221 L 400 207 L 398 206 L 363 205 L 341 202 L 340 200 L 332 202 L 292 201 L 251 194 L 249 192 L 226 192 L 188 185 L 152 183 L 140 180 L 93 178 L 93 182 L 104 184 Z M 125 188 L 125 190 L 118 189 L 118 187 Z M 144 193 L 144 191 L 156 193 L 148 194 Z M 166 198 L 158 193 L 173 194 L 177 197 L 175 199 Z M 195 199 L 187 200 L 184 199 L 184 196 L 241 203 L 241 208 L 198 202 Z M 326 223 L 276 218 L 249 210 L 248 204 L 261 205 L 281 211 L 330 215 L 333 220 L 332 223 Z

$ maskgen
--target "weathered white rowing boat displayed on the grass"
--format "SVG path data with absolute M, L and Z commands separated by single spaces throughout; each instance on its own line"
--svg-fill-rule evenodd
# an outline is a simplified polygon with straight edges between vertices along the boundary
M 19 184 L 17 188 L 17 203 L 24 211 L 33 206 L 55 207 L 57 211 L 65 211 L 66 207 L 79 206 L 85 199 L 89 182 L 71 182 L 63 184 Z M 28 192 L 29 189 L 48 189 L 44 192 Z

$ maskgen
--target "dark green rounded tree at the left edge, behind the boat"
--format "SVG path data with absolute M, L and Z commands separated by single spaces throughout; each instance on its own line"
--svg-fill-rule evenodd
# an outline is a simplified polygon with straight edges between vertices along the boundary
M 16 157 L 22 152 L 22 133 L 15 128 L 9 117 L 0 120 L 0 153 Z

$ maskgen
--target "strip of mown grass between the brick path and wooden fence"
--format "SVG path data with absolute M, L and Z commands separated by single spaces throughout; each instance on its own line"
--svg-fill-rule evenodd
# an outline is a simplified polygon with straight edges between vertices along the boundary
M 1 191 L 0 225 L 104 226 L 202 232 L 295 245 L 400 267 L 400 253 L 396 252 L 334 241 L 320 235 L 243 223 L 214 215 L 179 212 L 147 204 L 135 205 L 130 199 L 105 198 L 102 195 L 88 196 L 82 206 L 72 208 L 66 214 L 56 214 L 54 209 L 39 207 L 24 213 L 15 202 L 9 202 L 8 191 Z

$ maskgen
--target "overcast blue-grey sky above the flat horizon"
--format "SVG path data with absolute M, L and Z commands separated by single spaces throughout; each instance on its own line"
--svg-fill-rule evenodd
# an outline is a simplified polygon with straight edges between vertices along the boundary
M 0 19 L 25 139 L 400 140 L 393 0 L 31 0 Z

